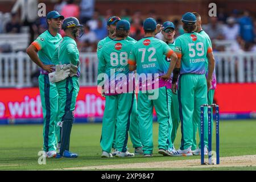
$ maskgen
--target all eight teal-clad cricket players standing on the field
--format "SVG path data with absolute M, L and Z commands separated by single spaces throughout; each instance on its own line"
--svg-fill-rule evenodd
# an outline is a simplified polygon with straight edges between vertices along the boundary
M 159 154 L 200 155 L 200 142 L 198 147 L 196 142 L 200 105 L 213 102 L 214 58 L 200 15 L 188 12 L 181 21 L 185 34 L 174 41 L 174 23 L 161 25 L 147 18 L 143 22 L 144 38 L 137 42 L 129 37 L 127 20 L 118 16 L 108 19 L 109 36 L 97 46 L 97 84 L 106 100 L 102 158 L 152 156 L 153 108 L 159 123 Z M 83 28 L 75 17 L 64 19 L 57 11 L 47 14 L 47 24 L 48 30 L 27 48 L 31 60 L 40 67 L 43 150 L 47 158 L 77 158 L 69 151 L 69 141 L 83 72 L 75 40 L 82 36 Z M 65 31 L 64 38 L 58 33 L 60 28 Z M 164 41 L 155 38 L 159 32 Z M 175 150 L 179 123 L 181 145 Z M 206 121 L 204 129 L 208 130 Z M 134 153 L 127 151 L 128 133 Z M 204 133 L 207 154 L 208 136 Z

